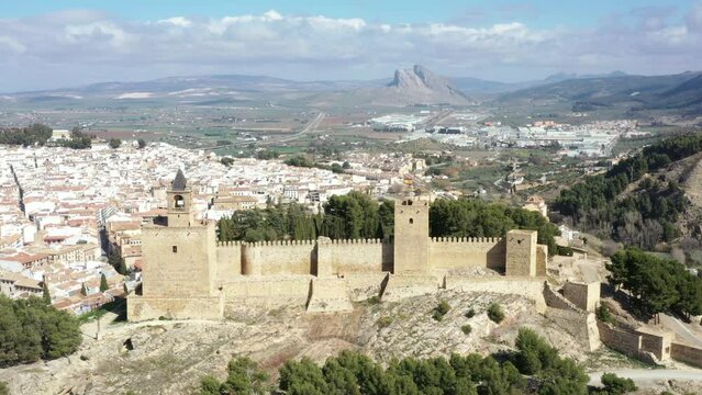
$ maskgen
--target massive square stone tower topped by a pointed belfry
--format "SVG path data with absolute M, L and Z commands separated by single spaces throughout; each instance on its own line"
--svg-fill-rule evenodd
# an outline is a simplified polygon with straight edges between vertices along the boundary
M 194 222 L 192 192 L 182 171 L 167 196 L 167 223 L 142 228 L 142 293 L 130 295 L 127 318 L 222 318 L 223 297 L 214 286 L 214 224 Z

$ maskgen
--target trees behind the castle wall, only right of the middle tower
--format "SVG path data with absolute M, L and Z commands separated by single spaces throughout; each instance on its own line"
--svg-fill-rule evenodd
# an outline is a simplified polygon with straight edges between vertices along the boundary
M 515 228 L 538 230 L 538 242 L 558 252 L 560 232 L 537 212 L 475 199 L 438 200 L 430 208 L 432 237 L 503 237 Z

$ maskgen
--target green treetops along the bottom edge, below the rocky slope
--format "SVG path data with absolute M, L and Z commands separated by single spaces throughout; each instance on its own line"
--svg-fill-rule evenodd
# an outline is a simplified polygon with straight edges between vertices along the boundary
M 224 382 L 213 376 L 201 381 L 202 395 L 511 395 L 536 392 L 542 395 L 588 394 L 588 375 L 571 359 L 558 357 L 556 349 L 528 329 L 521 329 L 517 351 L 502 362 L 479 354 L 450 358 L 404 358 L 387 368 L 353 351 L 342 351 L 319 366 L 312 360 L 287 361 L 278 371 L 277 385 L 247 358 L 233 359 Z M 536 385 L 530 385 L 528 374 Z M 624 383 L 624 384 L 622 384 Z M 611 387 L 611 388 L 610 388 Z M 624 388 L 624 391 L 616 391 Z M 610 391 L 614 390 L 614 391 Z M 636 387 L 610 374 L 601 394 L 623 394 Z

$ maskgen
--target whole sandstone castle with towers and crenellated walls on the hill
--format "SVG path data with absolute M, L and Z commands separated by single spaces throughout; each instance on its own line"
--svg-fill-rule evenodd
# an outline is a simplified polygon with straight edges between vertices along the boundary
M 347 311 L 372 296 L 392 301 L 441 289 L 517 293 L 545 308 L 548 251 L 535 230 L 430 238 L 428 202 L 405 200 L 395 204 L 393 242 L 218 242 L 214 223 L 196 221 L 180 170 L 166 193 L 167 217 L 142 229 L 142 292 L 129 296 L 130 320 L 221 319 L 227 306 L 241 305 Z M 476 274 L 480 268 L 502 275 Z

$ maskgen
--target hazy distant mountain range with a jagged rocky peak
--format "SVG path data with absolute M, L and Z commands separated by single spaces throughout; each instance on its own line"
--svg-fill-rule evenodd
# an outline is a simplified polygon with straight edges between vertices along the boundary
M 702 113 L 702 72 L 671 76 L 557 74 L 516 83 L 470 77 L 442 77 L 423 66 L 395 70 L 392 79 L 292 81 L 267 76 L 168 77 L 142 82 L 103 82 L 77 88 L 0 95 L 0 103 L 26 104 L 88 101 L 175 101 L 212 105 L 261 100 L 309 105 L 464 105 L 473 98 L 497 105 L 572 105 L 573 111 L 603 108 L 670 109 Z

